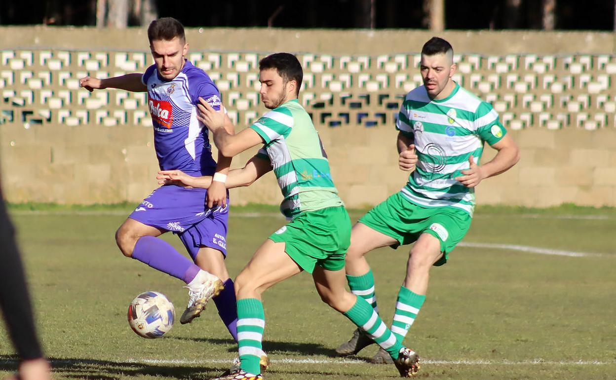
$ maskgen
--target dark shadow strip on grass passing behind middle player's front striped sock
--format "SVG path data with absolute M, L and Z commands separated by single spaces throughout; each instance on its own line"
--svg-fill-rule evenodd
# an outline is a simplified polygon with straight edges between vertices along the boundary
M 231 339 L 218 338 L 184 338 L 181 336 L 170 337 L 169 339 L 179 339 L 180 341 L 193 341 L 206 344 L 229 344 L 231 347 L 227 352 L 237 352 L 237 346 Z M 333 349 L 317 343 L 299 343 L 299 342 L 277 342 L 264 341 L 263 350 L 268 354 L 288 354 L 288 355 L 325 355 L 336 357 L 336 352 Z

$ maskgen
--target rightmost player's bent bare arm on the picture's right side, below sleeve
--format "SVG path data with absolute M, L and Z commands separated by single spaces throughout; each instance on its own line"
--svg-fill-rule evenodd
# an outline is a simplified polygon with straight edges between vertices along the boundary
M 470 168 L 461 171 L 464 176 L 456 177 L 456 180 L 466 187 L 476 187 L 483 179 L 507 171 L 520 160 L 519 148 L 517 148 L 516 142 L 508 134 L 491 146 L 498 150 L 492 161 L 483 165 L 477 165 L 471 155 L 469 158 Z

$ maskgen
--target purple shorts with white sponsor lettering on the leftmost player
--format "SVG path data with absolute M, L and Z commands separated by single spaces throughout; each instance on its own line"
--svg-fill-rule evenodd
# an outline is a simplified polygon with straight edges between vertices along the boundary
M 148 195 L 128 217 L 180 237 L 193 260 L 201 247 L 218 249 L 227 256 L 227 207 L 208 209 L 208 190 L 175 185 L 161 186 Z M 228 195 L 227 195 L 228 196 Z

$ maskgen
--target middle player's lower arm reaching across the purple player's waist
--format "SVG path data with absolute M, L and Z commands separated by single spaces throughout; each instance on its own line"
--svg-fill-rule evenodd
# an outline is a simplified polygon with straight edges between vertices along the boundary
M 269 160 L 253 156 L 243 168 L 229 171 L 227 188 L 249 186 L 271 170 L 272 164 Z M 209 188 L 212 184 L 212 176 L 193 177 L 181 170 L 161 170 L 156 179 L 160 185 Z

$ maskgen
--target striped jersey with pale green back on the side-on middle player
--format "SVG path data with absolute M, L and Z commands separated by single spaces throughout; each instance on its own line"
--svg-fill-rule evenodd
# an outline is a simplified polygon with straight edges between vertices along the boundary
M 310 115 L 290 100 L 265 113 L 250 128 L 265 141 L 257 156 L 269 159 L 290 219 L 302 212 L 344 206 L 331 179 L 330 163 Z

